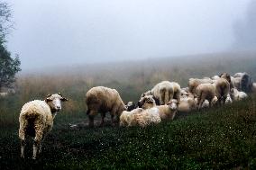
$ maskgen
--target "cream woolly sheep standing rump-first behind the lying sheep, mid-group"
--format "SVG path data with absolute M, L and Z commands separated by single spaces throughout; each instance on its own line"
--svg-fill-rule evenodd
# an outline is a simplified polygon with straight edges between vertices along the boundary
M 152 95 L 157 105 L 167 104 L 171 99 L 177 99 L 179 103 L 180 91 L 181 89 L 178 83 L 162 81 L 155 85 L 151 91 L 142 94 L 142 97 L 149 94 Z

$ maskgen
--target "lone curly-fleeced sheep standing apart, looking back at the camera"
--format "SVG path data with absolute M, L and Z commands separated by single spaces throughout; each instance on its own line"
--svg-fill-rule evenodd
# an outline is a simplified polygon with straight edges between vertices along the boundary
M 25 140 L 33 137 L 32 158 L 41 153 L 41 142 L 50 132 L 53 120 L 61 110 L 61 102 L 68 101 L 61 94 L 49 94 L 44 101 L 34 100 L 23 105 L 20 113 L 19 139 L 21 140 L 21 157 L 24 158 Z

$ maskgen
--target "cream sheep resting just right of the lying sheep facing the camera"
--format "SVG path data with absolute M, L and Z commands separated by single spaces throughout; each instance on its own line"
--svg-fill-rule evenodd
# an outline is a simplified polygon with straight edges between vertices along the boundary
M 191 93 L 183 95 L 178 104 L 178 112 L 190 112 L 197 109 L 196 96 Z

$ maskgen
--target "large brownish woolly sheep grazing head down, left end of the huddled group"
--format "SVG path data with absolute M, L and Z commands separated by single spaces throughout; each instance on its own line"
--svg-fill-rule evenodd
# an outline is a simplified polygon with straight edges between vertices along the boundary
M 114 124 L 114 116 L 117 122 L 120 114 L 126 110 L 123 100 L 115 89 L 105 86 L 96 86 L 87 91 L 86 94 L 87 115 L 89 127 L 94 126 L 94 117 L 98 112 L 101 113 L 101 126 L 105 121 L 105 112 L 110 112 L 111 121 Z

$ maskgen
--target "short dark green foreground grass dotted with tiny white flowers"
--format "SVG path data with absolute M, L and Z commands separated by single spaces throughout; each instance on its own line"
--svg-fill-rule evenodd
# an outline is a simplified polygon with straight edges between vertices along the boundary
M 19 158 L 17 128 L 1 128 L 1 169 L 231 169 L 256 166 L 255 97 L 148 128 L 81 128 L 56 120 L 41 157 Z M 58 115 L 61 117 L 61 115 Z M 32 157 L 32 142 L 27 157 Z

